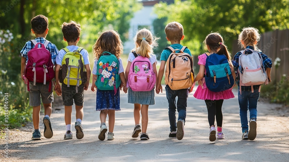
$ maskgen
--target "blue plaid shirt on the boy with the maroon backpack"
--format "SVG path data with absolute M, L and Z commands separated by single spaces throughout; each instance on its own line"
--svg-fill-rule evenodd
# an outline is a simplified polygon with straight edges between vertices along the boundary
M 45 38 L 35 38 L 34 39 L 37 43 L 44 43 L 46 41 Z M 26 58 L 26 64 L 28 62 L 28 52 L 34 48 L 34 44 L 31 41 L 26 42 L 25 46 L 23 47 L 23 49 L 20 51 L 21 56 Z M 53 65 L 56 65 L 56 56 L 58 55 L 58 49 L 57 47 L 52 44 L 51 42 L 47 45 L 46 49 L 48 49 L 48 51 L 51 54 L 51 60 Z

